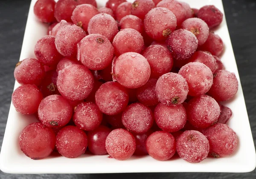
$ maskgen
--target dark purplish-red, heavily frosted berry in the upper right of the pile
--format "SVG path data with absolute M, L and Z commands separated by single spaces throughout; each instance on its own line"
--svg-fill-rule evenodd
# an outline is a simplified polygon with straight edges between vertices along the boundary
M 198 47 L 198 40 L 191 31 L 179 29 L 169 35 L 166 45 L 175 60 L 183 61 L 194 54 Z

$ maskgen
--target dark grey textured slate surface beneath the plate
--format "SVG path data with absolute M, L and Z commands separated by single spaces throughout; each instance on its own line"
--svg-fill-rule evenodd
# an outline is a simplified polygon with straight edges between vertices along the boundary
M 196 2 L 196 0 L 195 0 Z M 0 146 L 14 86 L 13 70 L 20 57 L 30 0 L 0 0 Z M 224 0 L 224 10 L 239 70 L 250 126 L 256 143 L 256 1 Z M 34 48 L 34 47 L 31 47 Z M 250 173 L 129 173 L 129 174 L 6 174 L 0 179 L 256 179 Z

